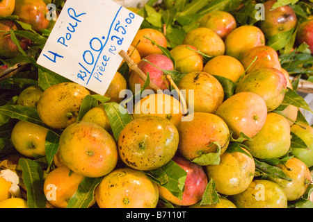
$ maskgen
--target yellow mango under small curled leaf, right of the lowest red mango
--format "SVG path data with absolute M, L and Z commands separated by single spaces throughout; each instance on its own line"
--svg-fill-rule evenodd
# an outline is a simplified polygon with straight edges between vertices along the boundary
M 245 148 L 243 151 L 249 153 Z M 216 191 L 235 195 L 245 191 L 255 176 L 255 160 L 246 153 L 234 152 L 220 155 L 220 164 L 205 167 L 209 180 L 216 183 Z

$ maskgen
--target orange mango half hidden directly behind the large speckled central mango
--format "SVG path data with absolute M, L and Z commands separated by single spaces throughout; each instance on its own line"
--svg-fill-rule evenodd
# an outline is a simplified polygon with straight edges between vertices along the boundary
M 163 117 L 178 126 L 183 117 L 182 104 L 168 94 L 150 94 L 135 104 L 132 114 L 134 119 L 147 115 Z

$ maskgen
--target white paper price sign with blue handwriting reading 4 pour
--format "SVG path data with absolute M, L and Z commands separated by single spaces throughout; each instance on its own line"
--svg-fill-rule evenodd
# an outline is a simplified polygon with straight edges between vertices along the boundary
M 142 22 L 111 0 L 67 0 L 37 63 L 104 95 Z

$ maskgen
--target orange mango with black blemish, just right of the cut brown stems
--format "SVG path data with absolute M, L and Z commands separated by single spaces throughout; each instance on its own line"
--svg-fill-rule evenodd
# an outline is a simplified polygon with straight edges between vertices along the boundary
M 216 112 L 224 100 L 224 89 L 211 74 L 196 71 L 186 74 L 178 84 L 184 90 L 188 108 L 194 112 Z

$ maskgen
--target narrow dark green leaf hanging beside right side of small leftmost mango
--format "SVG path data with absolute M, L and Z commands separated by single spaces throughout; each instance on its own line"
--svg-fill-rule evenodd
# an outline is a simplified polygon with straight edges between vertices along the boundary
M 48 131 L 45 142 L 45 151 L 47 162 L 51 165 L 54 160 L 54 155 L 58 152 L 58 144 L 59 144 L 60 136 L 52 131 Z

